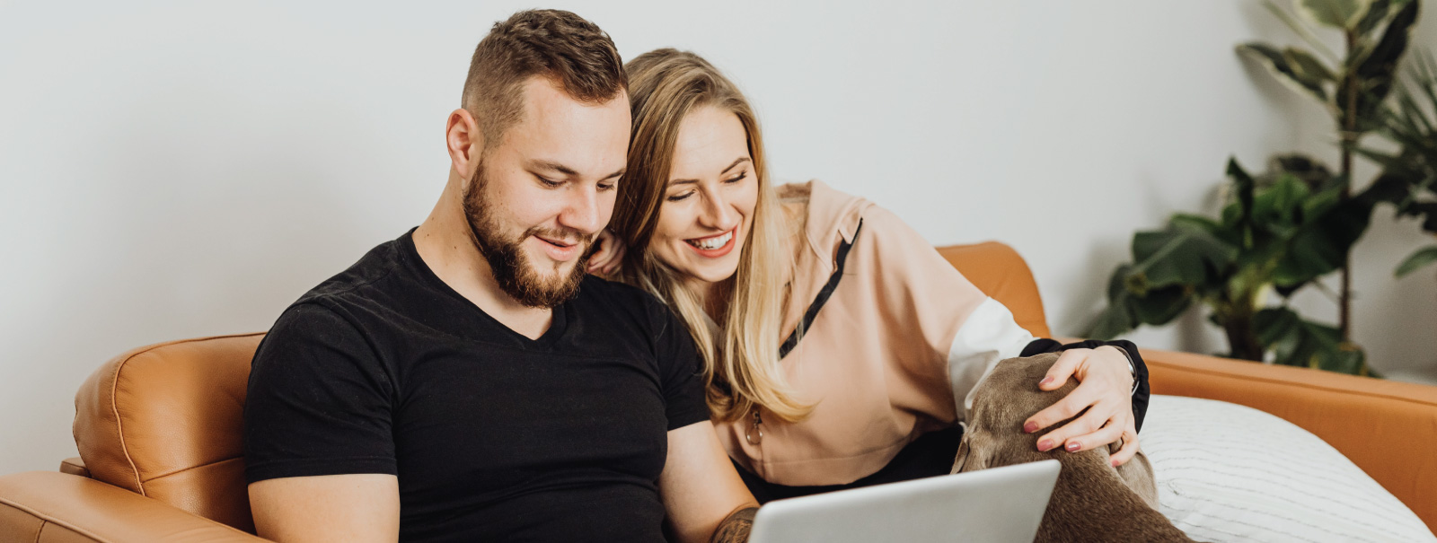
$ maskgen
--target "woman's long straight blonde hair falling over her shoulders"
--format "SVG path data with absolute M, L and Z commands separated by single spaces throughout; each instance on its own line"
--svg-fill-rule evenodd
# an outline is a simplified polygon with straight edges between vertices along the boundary
M 756 407 L 786 421 L 802 419 L 812 405 L 793 398 L 779 368 L 779 335 L 787 297 L 782 283 L 792 256 L 785 247 L 783 210 L 769 184 L 763 135 L 753 108 L 733 82 L 694 53 L 651 50 L 629 60 L 624 69 L 629 78 L 634 131 L 628 171 L 619 182 L 609 221 L 609 228 L 629 247 L 619 279 L 658 296 L 688 325 L 704 358 L 708 408 L 717 419 L 733 421 Z M 678 272 L 647 250 L 668 188 L 678 125 L 704 106 L 730 111 L 743 124 L 759 184 L 739 270 L 729 289 L 716 290 L 729 297 L 727 315 L 716 319 L 721 328 L 717 340 L 708 330 L 698 296 L 683 286 Z

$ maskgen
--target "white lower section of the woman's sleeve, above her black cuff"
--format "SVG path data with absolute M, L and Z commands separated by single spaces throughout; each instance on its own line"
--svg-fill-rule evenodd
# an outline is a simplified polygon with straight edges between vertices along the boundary
M 1033 339 L 997 300 L 989 297 L 979 303 L 953 336 L 953 346 L 948 349 L 948 379 L 953 384 L 953 398 L 958 401 L 960 421 L 969 418 L 973 391 L 979 382 L 987 378 L 999 361 L 1020 355 Z

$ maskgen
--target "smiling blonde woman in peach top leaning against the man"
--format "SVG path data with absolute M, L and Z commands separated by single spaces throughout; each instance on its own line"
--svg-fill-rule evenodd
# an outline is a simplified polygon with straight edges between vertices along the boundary
M 625 69 L 628 171 L 591 270 L 688 325 L 720 440 L 760 501 L 947 473 L 986 371 L 1063 349 L 887 210 L 818 181 L 770 187 L 753 109 L 708 62 L 660 49 Z M 1072 345 L 1053 366 L 1042 388 L 1081 385 L 1025 430 L 1086 412 L 1040 448 L 1137 452 L 1147 371 L 1114 345 Z

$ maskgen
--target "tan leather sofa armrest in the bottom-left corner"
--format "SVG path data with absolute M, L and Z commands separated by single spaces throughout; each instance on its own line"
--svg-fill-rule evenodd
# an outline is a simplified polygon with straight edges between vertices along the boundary
M 266 542 L 158 500 L 57 471 L 0 477 L 0 543 Z

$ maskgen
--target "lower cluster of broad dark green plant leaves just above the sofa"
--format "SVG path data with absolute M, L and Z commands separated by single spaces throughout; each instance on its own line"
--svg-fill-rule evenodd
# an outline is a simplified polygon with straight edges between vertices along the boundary
M 1111 339 L 1165 325 L 1198 303 L 1227 336 L 1227 356 L 1368 375 L 1362 351 L 1334 326 L 1308 320 L 1288 299 L 1346 261 L 1375 200 L 1342 198 L 1346 178 L 1300 155 L 1263 175 L 1227 162 L 1230 194 L 1219 218 L 1175 214 L 1132 237 L 1132 264 L 1108 284 L 1108 307 L 1089 336 Z M 1279 305 L 1270 307 L 1270 296 Z

